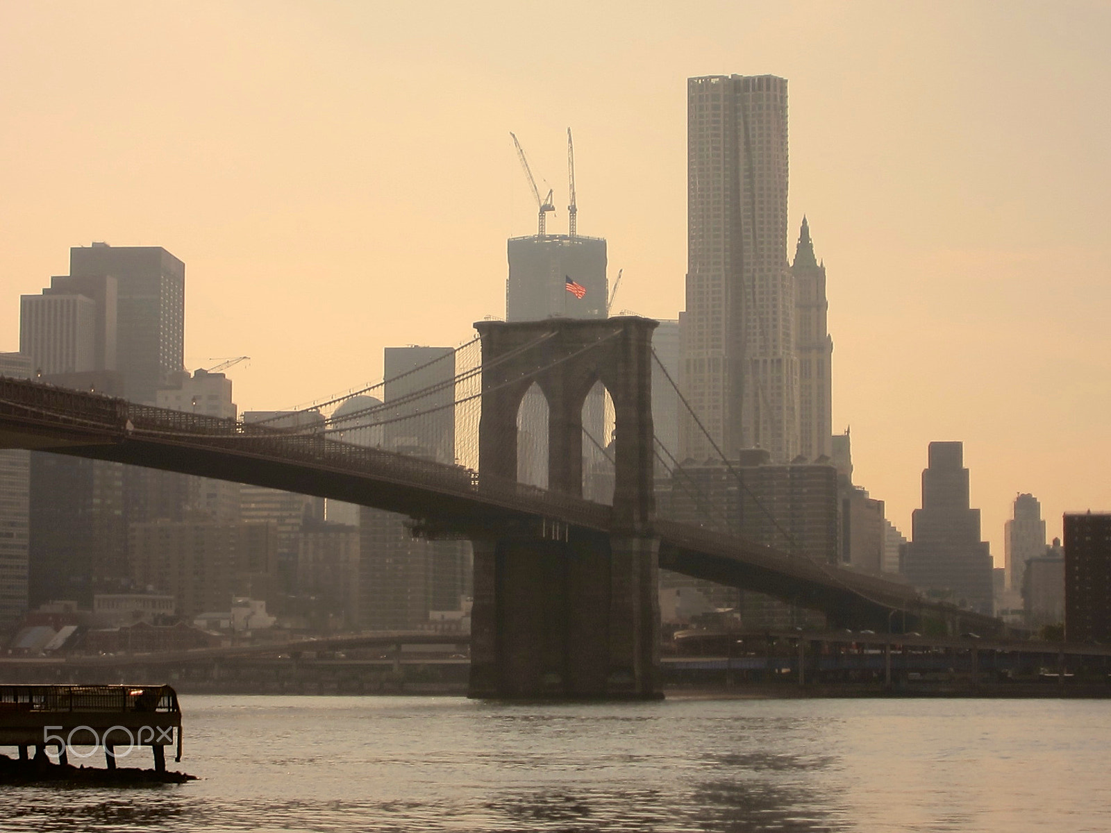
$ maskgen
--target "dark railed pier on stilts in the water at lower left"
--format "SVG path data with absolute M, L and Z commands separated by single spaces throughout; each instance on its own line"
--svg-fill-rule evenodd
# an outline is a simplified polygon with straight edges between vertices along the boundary
M 181 760 L 181 709 L 169 685 L 0 685 L 0 746 L 19 747 L 21 761 L 60 764 L 73 746 L 104 750 L 109 770 L 141 746 L 150 746 L 156 772 L 166 772 L 166 747 Z M 89 757 L 79 754 L 76 757 Z

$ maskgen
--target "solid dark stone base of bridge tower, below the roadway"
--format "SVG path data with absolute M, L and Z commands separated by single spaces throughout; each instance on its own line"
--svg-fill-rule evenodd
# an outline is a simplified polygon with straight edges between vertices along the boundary
M 657 542 L 474 542 L 469 696 L 660 697 Z

